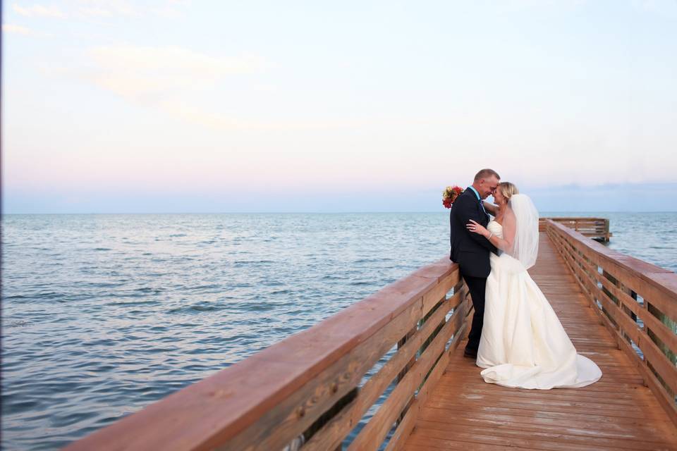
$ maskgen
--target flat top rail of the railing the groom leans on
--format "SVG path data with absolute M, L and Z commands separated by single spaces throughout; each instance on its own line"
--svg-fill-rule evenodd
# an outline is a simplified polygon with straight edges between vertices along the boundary
M 315 326 L 295 333 L 67 450 L 207 450 L 224 443 L 458 271 L 449 258 L 414 271 Z

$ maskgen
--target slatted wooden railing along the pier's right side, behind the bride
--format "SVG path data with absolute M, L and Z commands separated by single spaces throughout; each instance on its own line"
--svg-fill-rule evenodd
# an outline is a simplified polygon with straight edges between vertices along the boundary
M 614 252 L 555 221 L 547 234 L 591 306 L 677 424 L 677 274 Z

